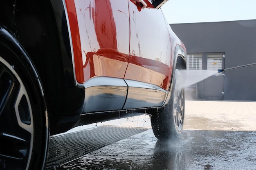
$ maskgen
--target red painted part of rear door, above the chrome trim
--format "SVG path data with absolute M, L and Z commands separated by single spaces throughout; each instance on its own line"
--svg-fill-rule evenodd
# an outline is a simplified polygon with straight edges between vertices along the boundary
M 125 79 L 169 89 L 172 70 L 171 39 L 161 10 L 141 11 L 129 1 L 130 58 Z M 159 43 L 161 42 L 161 43 Z

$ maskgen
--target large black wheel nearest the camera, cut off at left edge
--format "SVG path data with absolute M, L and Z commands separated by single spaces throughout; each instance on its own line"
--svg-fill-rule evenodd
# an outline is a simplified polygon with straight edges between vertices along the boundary
M 18 41 L 0 27 L 0 169 L 43 169 L 48 132 L 38 75 Z

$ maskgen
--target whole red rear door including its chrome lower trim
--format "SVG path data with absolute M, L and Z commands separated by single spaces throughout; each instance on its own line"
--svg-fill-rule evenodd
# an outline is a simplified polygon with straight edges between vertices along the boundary
M 169 25 L 161 9 L 139 10 L 129 0 L 129 12 L 130 57 L 125 74 L 129 92 L 124 109 L 137 107 L 134 99 L 138 106 L 162 105 L 170 86 L 173 63 Z M 151 91 L 140 88 L 141 84 Z

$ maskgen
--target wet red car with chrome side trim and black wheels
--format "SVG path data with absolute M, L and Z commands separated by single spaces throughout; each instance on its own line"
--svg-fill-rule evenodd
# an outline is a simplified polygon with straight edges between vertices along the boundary
M 180 135 L 186 49 L 165 1 L 0 2 L 0 169 L 43 169 L 49 135 L 141 113 Z

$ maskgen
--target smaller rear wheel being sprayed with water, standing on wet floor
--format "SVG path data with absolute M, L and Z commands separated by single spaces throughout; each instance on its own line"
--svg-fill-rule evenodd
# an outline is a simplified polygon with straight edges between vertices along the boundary
M 153 133 L 157 139 L 180 137 L 184 124 L 184 109 L 184 88 L 181 88 L 181 75 L 176 69 L 169 102 L 150 117 Z

